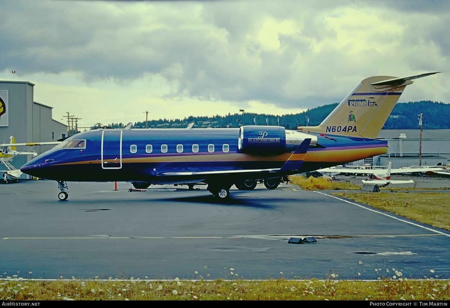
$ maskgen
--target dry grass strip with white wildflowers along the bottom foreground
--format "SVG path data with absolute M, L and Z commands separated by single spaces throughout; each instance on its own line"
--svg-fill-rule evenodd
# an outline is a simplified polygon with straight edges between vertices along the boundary
M 444 300 L 450 280 L 0 280 L 0 300 Z

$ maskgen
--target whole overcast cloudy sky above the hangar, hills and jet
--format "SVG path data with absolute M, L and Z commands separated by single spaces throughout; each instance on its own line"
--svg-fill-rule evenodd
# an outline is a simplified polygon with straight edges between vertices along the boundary
M 0 79 L 80 126 L 297 113 L 373 75 L 443 71 L 400 101 L 450 102 L 449 28 L 447 0 L 0 0 Z

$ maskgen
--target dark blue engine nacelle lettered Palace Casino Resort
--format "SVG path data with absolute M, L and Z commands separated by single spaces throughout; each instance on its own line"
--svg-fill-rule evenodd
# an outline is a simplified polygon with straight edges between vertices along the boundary
M 239 151 L 248 154 L 281 154 L 286 152 L 284 127 L 247 125 L 239 129 Z

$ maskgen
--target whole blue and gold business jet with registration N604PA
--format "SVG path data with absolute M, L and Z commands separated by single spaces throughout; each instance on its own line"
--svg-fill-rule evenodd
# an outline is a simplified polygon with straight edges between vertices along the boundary
M 126 181 L 150 184 L 206 183 L 218 199 L 233 184 L 279 179 L 387 153 L 375 139 L 413 79 L 365 78 L 316 127 L 288 130 L 248 125 L 238 129 L 95 129 L 67 138 L 21 170 L 58 181 L 66 200 L 67 181 Z

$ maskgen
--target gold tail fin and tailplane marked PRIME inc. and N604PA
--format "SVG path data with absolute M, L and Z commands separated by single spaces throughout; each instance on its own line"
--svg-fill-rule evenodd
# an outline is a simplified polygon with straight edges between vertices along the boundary
M 440 72 L 405 78 L 365 78 L 319 126 L 299 129 L 311 133 L 376 138 L 405 87 L 413 83 L 412 79 L 437 73 Z

